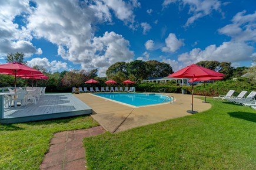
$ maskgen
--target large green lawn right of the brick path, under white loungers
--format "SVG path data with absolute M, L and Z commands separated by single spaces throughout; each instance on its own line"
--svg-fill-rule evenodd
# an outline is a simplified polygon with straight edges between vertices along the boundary
M 202 113 L 85 138 L 88 169 L 255 169 L 256 111 L 208 101 Z

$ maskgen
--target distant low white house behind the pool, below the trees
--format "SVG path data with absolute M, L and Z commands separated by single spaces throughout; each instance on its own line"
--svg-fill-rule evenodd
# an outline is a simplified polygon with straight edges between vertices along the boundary
M 153 83 L 167 83 L 168 81 L 175 81 L 181 86 L 189 85 L 187 78 L 173 78 L 173 77 L 149 77 L 148 80 L 142 82 L 153 82 Z

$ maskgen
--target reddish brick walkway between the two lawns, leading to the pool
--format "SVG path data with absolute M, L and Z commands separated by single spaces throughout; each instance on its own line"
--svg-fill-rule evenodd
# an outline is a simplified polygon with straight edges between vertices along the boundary
M 82 140 L 104 133 L 101 126 L 87 130 L 58 132 L 51 140 L 49 152 L 40 169 L 86 169 L 85 149 Z

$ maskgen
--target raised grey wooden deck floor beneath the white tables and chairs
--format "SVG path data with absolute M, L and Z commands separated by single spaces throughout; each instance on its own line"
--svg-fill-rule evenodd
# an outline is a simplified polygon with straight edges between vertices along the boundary
M 92 108 L 70 93 L 45 94 L 37 103 L 4 109 L 0 123 L 21 123 L 91 114 Z

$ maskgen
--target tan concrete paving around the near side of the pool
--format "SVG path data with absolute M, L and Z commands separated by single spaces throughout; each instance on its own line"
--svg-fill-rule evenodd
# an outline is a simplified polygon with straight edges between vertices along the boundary
M 147 107 L 131 107 L 97 97 L 90 93 L 74 94 L 77 98 L 92 108 L 91 116 L 109 132 L 125 131 L 134 127 L 154 124 L 172 118 L 191 115 L 191 95 L 167 93 L 174 96 L 175 103 L 158 104 Z M 194 96 L 194 110 L 201 112 L 211 108 L 211 104 L 202 103 Z M 202 97 L 202 96 L 200 96 Z

